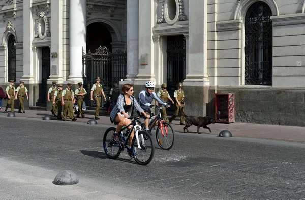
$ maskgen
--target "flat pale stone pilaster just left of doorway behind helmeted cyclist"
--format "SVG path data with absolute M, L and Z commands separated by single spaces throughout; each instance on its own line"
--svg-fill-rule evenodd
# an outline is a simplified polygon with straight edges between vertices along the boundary
M 154 43 L 153 43 L 153 26 L 155 1 L 140 0 L 139 4 L 139 73 L 135 84 L 143 85 L 146 81 L 154 81 Z

